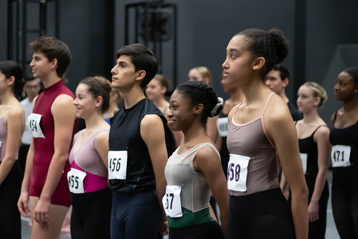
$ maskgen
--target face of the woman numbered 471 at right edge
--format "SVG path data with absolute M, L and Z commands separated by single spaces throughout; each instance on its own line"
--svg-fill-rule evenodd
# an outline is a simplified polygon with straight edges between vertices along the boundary
M 336 100 L 348 101 L 356 97 L 358 86 L 355 85 L 353 76 L 343 71 L 337 76 L 337 82 L 334 86 L 334 96 Z

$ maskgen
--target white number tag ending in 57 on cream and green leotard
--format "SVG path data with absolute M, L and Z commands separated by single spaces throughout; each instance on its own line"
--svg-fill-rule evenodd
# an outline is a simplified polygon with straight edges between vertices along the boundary
M 171 218 L 180 218 L 183 216 L 180 191 L 182 191 L 182 188 L 177 185 L 166 186 L 162 202 L 165 214 Z

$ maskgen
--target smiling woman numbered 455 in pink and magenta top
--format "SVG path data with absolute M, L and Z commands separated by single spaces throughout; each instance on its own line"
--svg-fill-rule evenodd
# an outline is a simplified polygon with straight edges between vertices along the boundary
M 88 77 L 76 89 L 76 116 L 86 128 L 74 135 L 69 153 L 71 171 L 71 236 L 110 238 L 112 192 L 107 187 L 108 133 L 102 115 L 109 107 L 111 83 L 101 76 Z

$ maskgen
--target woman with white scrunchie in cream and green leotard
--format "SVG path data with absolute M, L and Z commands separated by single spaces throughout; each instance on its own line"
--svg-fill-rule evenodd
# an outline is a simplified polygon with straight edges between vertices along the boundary
M 184 133 L 184 143 L 169 157 L 163 205 L 170 238 L 223 238 L 229 218 L 229 193 L 220 154 L 205 130 L 208 117 L 218 115 L 223 99 L 202 81 L 176 87 L 170 97 L 168 125 Z M 211 191 L 219 205 L 222 228 L 210 215 Z

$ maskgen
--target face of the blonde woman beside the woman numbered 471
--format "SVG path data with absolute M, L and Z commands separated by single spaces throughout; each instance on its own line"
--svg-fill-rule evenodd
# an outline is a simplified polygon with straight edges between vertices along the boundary
M 297 108 L 301 113 L 308 113 L 318 108 L 320 97 L 315 97 L 313 90 L 307 86 L 301 86 L 297 91 Z

